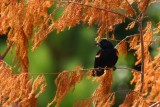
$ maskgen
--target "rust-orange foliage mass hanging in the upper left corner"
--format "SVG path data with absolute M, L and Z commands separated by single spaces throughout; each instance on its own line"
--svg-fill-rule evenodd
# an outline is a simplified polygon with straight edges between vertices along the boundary
M 0 35 L 8 33 L 8 42 L 16 46 L 16 59 L 22 72 L 28 71 L 28 42 L 33 38 L 33 49 L 42 41 L 51 27 L 47 9 L 53 1 L 46 0 L 1 0 Z

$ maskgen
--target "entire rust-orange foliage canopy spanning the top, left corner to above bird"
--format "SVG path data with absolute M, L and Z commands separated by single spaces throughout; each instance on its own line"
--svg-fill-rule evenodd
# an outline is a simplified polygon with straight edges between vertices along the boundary
M 146 2 L 147 0 L 145 0 Z M 47 35 L 53 31 L 63 31 L 77 24 L 88 23 L 98 25 L 99 39 L 108 32 L 113 31 L 116 24 L 131 18 L 136 14 L 131 3 L 127 0 L 76 0 L 62 1 L 57 3 L 58 8 L 63 7 L 62 16 L 55 20 L 53 11 L 48 14 L 48 8 L 54 4 L 53 0 L 1 0 L 0 1 L 0 35 L 8 33 L 8 42 L 13 42 L 16 46 L 16 59 L 22 65 L 22 71 L 28 70 L 28 42 L 33 41 L 35 50 L 44 41 Z M 145 5 L 141 1 L 139 9 L 143 10 Z M 144 6 L 145 7 L 145 6 Z M 121 12 L 124 14 L 121 14 Z M 129 28 L 134 27 L 133 21 Z

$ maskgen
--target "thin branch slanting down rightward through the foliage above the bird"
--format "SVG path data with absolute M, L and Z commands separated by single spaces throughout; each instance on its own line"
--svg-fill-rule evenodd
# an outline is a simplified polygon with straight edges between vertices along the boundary
M 121 14 L 121 13 L 118 13 L 118 12 L 115 12 L 115 11 L 112 11 L 112 10 L 103 9 L 103 8 L 100 8 L 100 7 L 95 7 L 95 6 L 91 6 L 91 5 L 87 5 L 87 4 L 83 4 L 83 3 L 79 3 L 79 2 L 74 2 L 74 1 L 62 1 L 62 2 L 74 3 L 74 4 L 78 4 L 78 5 L 82 5 L 82 6 L 86 6 L 86 7 L 90 7 L 90 8 L 95 8 L 95 9 L 98 9 L 98 10 L 107 11 L 107 12 L 110 12 L 110 13 L 113 13 L 113 14 L 117 14 L 119 16 L 125 17 L 127 19 L 132 20 L 132 21 L 135 20 L 134 18 L 128 17 L 124 14 Z

